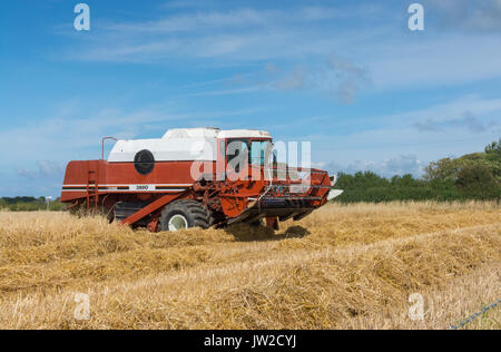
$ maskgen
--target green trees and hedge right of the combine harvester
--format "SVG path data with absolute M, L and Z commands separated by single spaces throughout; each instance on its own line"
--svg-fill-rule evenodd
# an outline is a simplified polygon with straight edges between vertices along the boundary
M 337 202 L 391 201 L 466 201 L 501 198 L 501 139 L 483 153 L 444 158 L 431 163 L 423 178 L 412 175 L 391 179 L 372 172 L 347 175 L 341 173 L 336 188 L 344 193 Z

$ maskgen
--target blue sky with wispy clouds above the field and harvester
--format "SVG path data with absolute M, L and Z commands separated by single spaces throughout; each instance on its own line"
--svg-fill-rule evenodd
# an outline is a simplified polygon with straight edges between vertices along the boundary
M 6 0 L 0 196 L 58 196 L 100 138 L 173 127 L 311 140 L 331 172 L 420 175 L 501 135 L 501 0 Z

